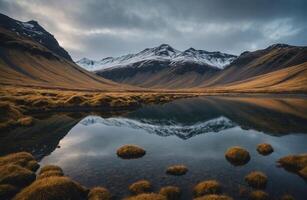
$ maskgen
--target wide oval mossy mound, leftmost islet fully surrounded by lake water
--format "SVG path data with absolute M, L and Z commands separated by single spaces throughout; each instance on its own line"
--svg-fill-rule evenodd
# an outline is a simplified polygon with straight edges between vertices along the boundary
M 146 154 L 146 151 L 137 145 L 124 145 L 117 149 L 117 155 L 124 159 L 140 158 Z

